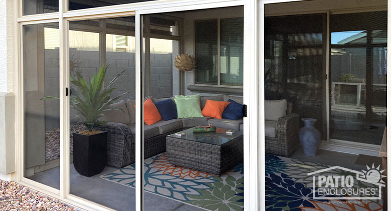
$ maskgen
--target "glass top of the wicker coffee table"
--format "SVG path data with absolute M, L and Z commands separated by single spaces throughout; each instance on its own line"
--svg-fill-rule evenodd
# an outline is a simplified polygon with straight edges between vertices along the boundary
M 175 133 L 168 135 L 169 137 L 180 138 L 190 141 L 198 141 L 202 143 L 209 143 L 214 145 L 222 145 L 230 140 L 233 140 L 241 135 L 243 132 L 234 131 L 232 135 L 226 134 L 227 129 L 216 128 L 215 132 L 193 132 L 194 127 L 180 131 L 184 135 L 178 136 Z

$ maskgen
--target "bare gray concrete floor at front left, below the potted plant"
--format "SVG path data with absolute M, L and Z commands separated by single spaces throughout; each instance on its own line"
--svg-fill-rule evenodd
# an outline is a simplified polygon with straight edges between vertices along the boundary
M 105 205 L 115 210 L 135 210 L 135 189 L 111 182 L 99 177 L 99 175 L 117 170 L 114 167 L 106 166 L 98 175 L 85 177 L 76 172 L 71 164 L 71 194 Z M 46 184 L 48 186 L 60 188 L 60 168 L 53 168 L 38 173 L 30 179 Z M 176 200 L 162 197 L 149 192 L 144 192 L 145 210 L 204 210 Z

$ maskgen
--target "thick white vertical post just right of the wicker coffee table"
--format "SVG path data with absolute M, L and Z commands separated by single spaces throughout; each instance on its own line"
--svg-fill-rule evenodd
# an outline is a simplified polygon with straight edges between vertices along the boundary
M 246 0 L 244 5 L 244 81 L 243 99 L 247 105 L 247 117 L 244 121 L 244 209 L 259 209 L 259 187 L 263 186 L 259 180 L 259 111 L 263 109 L 263 103 L 259 101 L 258 85 L 258 0 Z M 262 72 L 261 72 L 262 73 Z M 260 74 L 263 75 L 263 74 Z M 263 83 L 263 80 L 259 81 Z M 263 102 L 263 101 L 262 101 Z M 259 106 L 262 107 L 259 107 Z M 262 142 L 261 142 L 262 143 Z M 262 150 L 260 150 L 262 151 Z M 262 161 L 262 158 L 261 158 Z M 262 164 L 262 163 L 261 163 Z M 263 177 L 264 178 L 264 177 Z M 261 184 L 261 185 L 260 185 Z

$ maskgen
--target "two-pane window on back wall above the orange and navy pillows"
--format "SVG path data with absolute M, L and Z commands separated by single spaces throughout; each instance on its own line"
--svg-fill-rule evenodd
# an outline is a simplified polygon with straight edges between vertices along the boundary
M 195 22 L 196 83 L 243 86 L 243 28 L 243 18 Z

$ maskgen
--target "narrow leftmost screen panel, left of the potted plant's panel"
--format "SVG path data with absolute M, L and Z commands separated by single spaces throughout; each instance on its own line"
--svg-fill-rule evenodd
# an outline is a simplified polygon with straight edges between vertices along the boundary
M 24 177 L 60 189 L 58 23 L 23 26 Z

